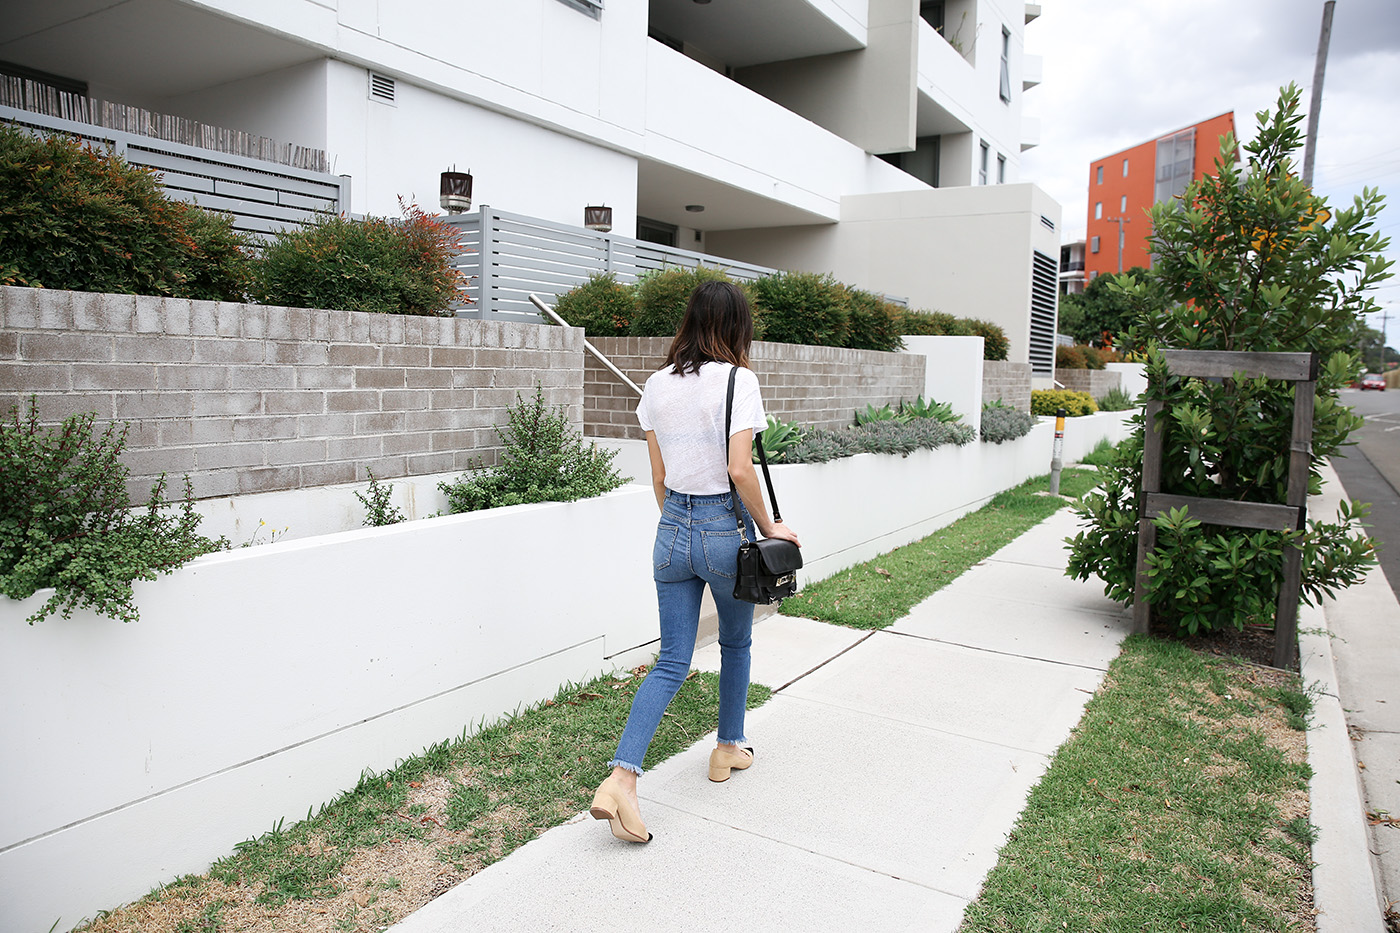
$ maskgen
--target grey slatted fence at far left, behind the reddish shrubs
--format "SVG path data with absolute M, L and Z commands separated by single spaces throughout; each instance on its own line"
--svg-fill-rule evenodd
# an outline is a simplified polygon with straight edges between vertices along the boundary
M 339 213 L 350 206 L 349 175 L 330 175 L 13 106 L 0 106 L 0 120 L 36 133 L 64 133 L 104 146 L 134 165 L 161 172 L 171 198 L 227 212 L 234 216 L 235 230 L 259 237 L 311 221 L 321 212 Z

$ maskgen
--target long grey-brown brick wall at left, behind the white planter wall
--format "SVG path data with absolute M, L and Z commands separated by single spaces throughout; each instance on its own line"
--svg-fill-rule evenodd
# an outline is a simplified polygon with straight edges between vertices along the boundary
M 496 424 L 543 385 L 582 426 L 582 332 L 456 318 L 0 287 L 0 413 L 130 423 L 139 502 L 494 464 Z

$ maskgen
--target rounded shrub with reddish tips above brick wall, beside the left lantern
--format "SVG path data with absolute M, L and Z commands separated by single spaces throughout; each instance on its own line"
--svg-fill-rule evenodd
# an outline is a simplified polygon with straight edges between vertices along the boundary
M 378 314 L 451 315 L 461 300 L 456 228 L 417 206 L 403 220 L 323 214 L 287 230 L 256 263 L 253 297 L 263 304 Z

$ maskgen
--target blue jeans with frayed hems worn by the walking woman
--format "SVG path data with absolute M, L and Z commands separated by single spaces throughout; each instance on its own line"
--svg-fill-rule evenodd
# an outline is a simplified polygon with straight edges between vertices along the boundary
M 753 541 L 753 521 L 743 510 L 745 530 Z M 720 611 L 720 741 L 738 745 L 743 737 L 743 712 L 749 700 L 749 646 L 753 643 L 753 604 L 734 598 L 739 530 L 729 493 L 690 496 L 666 492 L 651 549 L 657 605 L 661 609 L 661 654 L 637 688 L 627 727 L 609 766 L 640 775 L 661 714 L 690 672 L 700 597 L 710 584 Z

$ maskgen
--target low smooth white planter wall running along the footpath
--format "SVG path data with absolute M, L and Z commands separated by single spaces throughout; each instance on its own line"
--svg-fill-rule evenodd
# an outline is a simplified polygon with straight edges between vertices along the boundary
M 1126 434 L 1071 419 L 1065 461 Z M 774 469 L 806 581 L 1050 466 L 1005 444 Z M 0 598 L 0 929 L 69 929 L 483 719 L 655 650 L 643 486 L 209 555 L 136 586 L 140 622 L 25 625 Z M 638 455 L 640 451 L 640 455 Z

